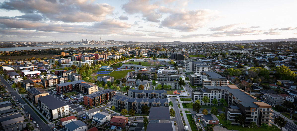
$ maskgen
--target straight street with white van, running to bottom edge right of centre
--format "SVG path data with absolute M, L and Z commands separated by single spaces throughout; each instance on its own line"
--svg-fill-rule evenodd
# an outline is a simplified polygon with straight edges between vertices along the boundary
M 183 131 L 183 130 L 185 130 L 185 128 L 184 128 L 184 124 L 183 124 L 183 122 L 181 120 L 181 114 L 179 113 L 180 111 L 178 110 L 178 106 L 177 106 L 178 101 L 176 101 L 176 97 L 172 97 L 171 100 L 172 100 L 172 103 L 173 103 L 173 109 L 174 109 L 175 114 L 176 114 L 175 118 L 173 118 L 171 120 L 176 121 L 177 129 L 179 131 Z M 187 119 L 187 117 L 185 117 L 185 119 Z

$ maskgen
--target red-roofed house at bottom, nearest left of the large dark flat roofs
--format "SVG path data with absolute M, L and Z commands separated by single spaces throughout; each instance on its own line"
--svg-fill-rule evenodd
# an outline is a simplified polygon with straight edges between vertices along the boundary
M 110 123 L 111 130 L 113 130 L 113 129 L 122 130 L 128 123 L 128 117 L 114 116 L 113 118 L 111 118 L 109 123 Z

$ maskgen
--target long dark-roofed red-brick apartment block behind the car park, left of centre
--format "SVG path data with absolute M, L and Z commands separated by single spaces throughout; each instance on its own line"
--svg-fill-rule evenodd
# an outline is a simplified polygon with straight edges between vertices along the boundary
M 78 89 L 80 83 L 85 83 L 84 80 L 72 81 L 67 83 L 60 83 L 56 85 L 57 92 L 68 92 Z

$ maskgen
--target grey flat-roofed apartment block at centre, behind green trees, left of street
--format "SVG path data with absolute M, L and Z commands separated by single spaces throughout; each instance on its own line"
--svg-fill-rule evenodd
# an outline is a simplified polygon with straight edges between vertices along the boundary
M 181 90 L 178 85 L 179 76 L 178 75 L 158 75 L 158 83 L 163 85 L 170 85 L 172 90 Z

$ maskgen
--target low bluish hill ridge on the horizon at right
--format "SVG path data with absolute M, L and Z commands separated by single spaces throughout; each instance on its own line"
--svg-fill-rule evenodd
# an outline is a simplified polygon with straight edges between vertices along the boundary
M 243 40 L 243 41 L 212 41 L 212 42 L 215 42 L 215 43 L 249 43 L 249 42 L 277 42 L 277 41 L 297 41 L 297 38 L 266 39 L 266 40 Z

